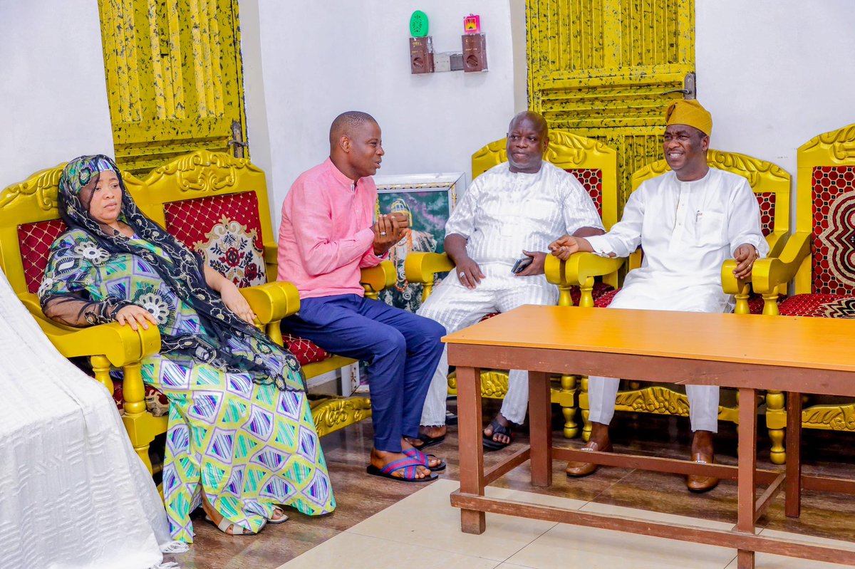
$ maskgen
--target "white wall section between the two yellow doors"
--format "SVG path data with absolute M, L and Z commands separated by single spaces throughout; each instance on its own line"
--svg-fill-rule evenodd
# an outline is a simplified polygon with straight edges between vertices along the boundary
M 245 0 L 241 17 L 256 5 L 261 73 L 245 53 L 246 88 L 261 89 L 266 105 L 274 222 L 293 180 L 326 159 L 329 125 L 345 110 L 366 111 L 380 123 L 382 174 L 469 173 L 472 153 L 504 137 L 515 110 L 507 0 Z M 435 51 L 459 51 L 463 16 L 481 15 L 490 70 L 410 74 L 414 9 L 428 15 Z M 253 153 L 260 131 L 251 121 Z

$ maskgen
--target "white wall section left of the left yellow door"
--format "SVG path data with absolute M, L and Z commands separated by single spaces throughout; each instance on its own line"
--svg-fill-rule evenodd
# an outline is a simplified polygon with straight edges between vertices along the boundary
M 113 155 L 97 2 L 0 1 L 0 189 Z

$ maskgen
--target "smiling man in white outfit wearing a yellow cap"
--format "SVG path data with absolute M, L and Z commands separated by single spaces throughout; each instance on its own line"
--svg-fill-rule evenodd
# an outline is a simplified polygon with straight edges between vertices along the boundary
M 707 166 L 712 117 L 700 103 L 675 101 L 665 120 L 663 150 L 671 172 L 641 184 L 610 232 L 589 238 L 564 236 L 551 243 L 552 255 L 566 260 L 576 251 L 589 251 L 625 257 L 641 246 L 641 267 L 628 273 L 609 308 L 730 312 L 733 298 L 722 291 L 722 262 L 734 258 L 734 273 L 747 279 L 754 261 L 769 253 L 757 200 L 745 178 Z M 589 378 L 593 429 L 582 450 L 611 450 L 609 423 L 617 384 L 616 378 Z M 711 463 L 718 388 L 687 385 L 686 391 L 694 431 L 691 460 Z M 587 476 L 596 469 L 588 462 L 567 465 L 569 476 Z M 716 484 L 717 478 L 687 479 L 688 489 L 696 492 Z

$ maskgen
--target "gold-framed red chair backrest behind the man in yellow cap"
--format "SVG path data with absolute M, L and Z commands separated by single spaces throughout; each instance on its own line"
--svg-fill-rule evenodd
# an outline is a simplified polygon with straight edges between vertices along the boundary
M 760 206 L 760 227 L 771 253 L 776 256 L 786 243 L 790 231 L 790 185 L 792 177 L 775 164 L 736 152 L 708 150 L 706 163 L 710 167 L 738 173 L 748 180 Z M 633 191 L 641 182 L 668 172 L 668 162 L 659 160 L 633 174 Z

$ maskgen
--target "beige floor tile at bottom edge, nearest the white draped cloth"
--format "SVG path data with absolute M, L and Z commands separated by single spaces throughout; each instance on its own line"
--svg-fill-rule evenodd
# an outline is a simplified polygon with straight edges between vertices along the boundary
M 443 567 L 443 569 L 494 569 L 496 560 L 437 551 L 418 543 L 392 543 L 377 537 L 343 532 L 310 549 L 278 569 L 319 567 Z

